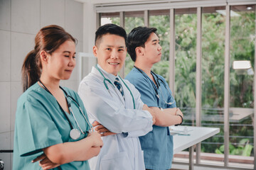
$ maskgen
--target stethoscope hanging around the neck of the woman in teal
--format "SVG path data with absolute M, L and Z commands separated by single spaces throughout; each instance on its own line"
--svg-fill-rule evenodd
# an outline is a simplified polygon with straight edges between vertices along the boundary
M 39 79 L 38 81 L 39 81 L 39 83 L 41 84 L 41 86 L 43 87 L 43 89 L 45 89 L 49 94 L 51 94 L 50 91 L 46 88 L 46 86 L 42 83 L 42 81 L 41 81 L 40 79 Z M 63 108 L 60 106 L 60 103 L 58 103 L 58 101 L 56 100 L 57 103 L 58 103 L 58 106 L 60 106 L 61 111 L 62 111 L 63 114 L 65 115 L 65 118 L 68 120 L 68 124 L 70 125 L 70 128 L 71 128 L 71 130 L 70 130 L 70 137 L 71 137 L 73 140 L 77 140 L 77 139 L 80 137 L 81 133 L 84 135 L 85 133 L 89 133 L 89 132 L 94 131 L 93 128 L 92 128 L 92 126 L 90 125 L 89 121 L 88 121 L 87 118 L 85 117 L 85 114 L 82 112 L 82 109 L 80 108 L 80 105 L 78 104 L 77 101 L 75 101 L 75 98 L 73 98 L 72 96 L 69 96 L 68 93 L 67 93 L 61 86 L 60 86 L 60 89 L 62 89 L 63 92 L 64 92 L 64 94 L 65 94 L 65 99 L 66 99 L 66 101 L 67 101 L 67 103 L 68 103 L 68 110 L 69 110 L 70 113 L 73 115 L 73 117 L 74 117 L 74 119 L 75 119 L 75 123 L 78 125 L 78 128 L 79 128 L 79 130 L 73 128 L 73 125 L 72 125 L 72 123 L 70 122 L 70 119 L 68 118 L 68 115 L 65 113 L 65 111 L 63 110 Z M 53 94 L 51 94 L 51 95 L 53 95 Z M 75 118 L 75 115 L 74 115 L 74 113 L 73 113 L 73 111 L 72 111 L 71 104 L 68 102 L 68 97 L 71 98 L 73 101 L 75 101 L 75 104 L 78 106 L 80 113 L 81 113 L 82 116 L 85 118 L 85 121 L 87 122 L 87 124 L 90 126 L 90 130 L 85 131 L 85 132 L 82 131 L 82 128 L 80 128 L 80 125 L 79 125 L 79 123 L 78 123 L 78 120 Z

